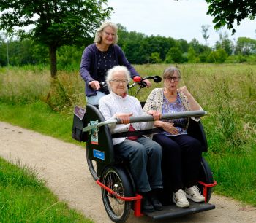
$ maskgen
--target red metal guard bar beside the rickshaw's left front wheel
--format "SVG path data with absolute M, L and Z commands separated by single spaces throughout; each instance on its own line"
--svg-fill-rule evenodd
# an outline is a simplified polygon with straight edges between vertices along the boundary
M 135 216 L 143 216 L 143 214 L 141 213 L 141 209 L 140 209 L 140 205 L 141 205 L 141 199 L 143 198 L 141 195 L 136 194 L 135 197 L 121 197 L 119 195 L 116 195 L 116 192 L 113 192 L 112 189 L 110 189 L 109 187 L 105 186 L 105 184 L 102 184 L 102 182 L 99 181 L 99 179 L 96 181 L 96 183 L 102 187 L 103 189 L 107 190 L 111 195 L 114 195 L 116 198 L 120 199 L 120 200 L 125 200 L 125 201 L 135 201 L 134 204 L 134 215 Z

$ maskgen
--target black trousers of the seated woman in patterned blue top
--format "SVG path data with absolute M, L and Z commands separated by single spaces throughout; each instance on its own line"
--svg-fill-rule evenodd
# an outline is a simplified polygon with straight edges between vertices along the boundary
M 153 140 L 162 146 L 164 189 L 177 191 L 196 184 L 202 160 L 200 141 L 188 135 L 156 134 Z

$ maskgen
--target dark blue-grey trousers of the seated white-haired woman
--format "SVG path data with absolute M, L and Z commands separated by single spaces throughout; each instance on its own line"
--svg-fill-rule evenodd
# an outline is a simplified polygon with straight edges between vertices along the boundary
M 139 192 L 162 188 L 162 148 L 150 138 L 140 137 L 136 141 L 124 140 L 114 146 L 115 155 L 129 161 L 129 168 Z

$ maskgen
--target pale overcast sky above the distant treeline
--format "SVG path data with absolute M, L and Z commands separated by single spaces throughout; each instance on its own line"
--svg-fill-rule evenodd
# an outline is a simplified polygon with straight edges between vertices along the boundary
M 219 40 L 213 17 L 206 15 L 208 5 L 204 0 L 108 0 L 108 6 L 113 7 L 110 20 L 120 23 L 127 31 L 186 39 L 187 42 L 196 38 L 204 44 L 201 26 L 210 25 L 208 44 L 213 46 Z M 226 28 L 222 33 L 226 32 L 231 40 L 241 36 L 256 39 L 256 20 L 246 19 L 235 28 L 235 35 Z

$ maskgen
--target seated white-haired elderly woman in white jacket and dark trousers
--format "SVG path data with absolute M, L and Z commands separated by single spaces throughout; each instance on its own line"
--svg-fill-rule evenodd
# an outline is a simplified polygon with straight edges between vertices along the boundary
M 125 66 L 114 66 L 108 71 L 106 82 L 110 94 L 99 100 L 99 111 L 105 120 L 119 118 L 122 124 L 111 124 L 110 132 L 118 133 L 152 128 L 154 122 L 129 123 L 129 117 L 144 114 L 140 101 L 127 95 L 129 71 Z M 148 111 L 154 120 L 159 120 L 159 111 Z M 113 138 L 115 156 L 129 162 L 138 193 L 143 195 L 143 211 L 162 210 L 157 192 L 162 189 L 162 148 L 145 136 Z

